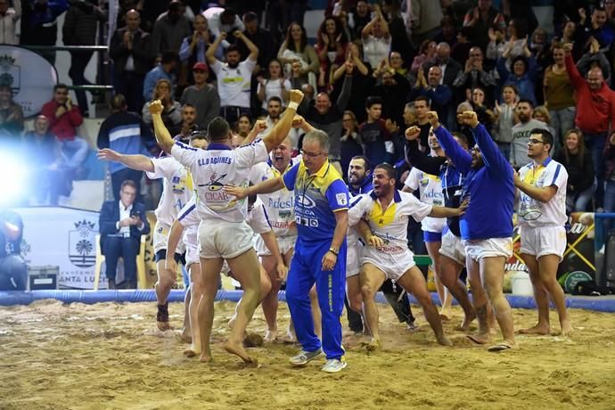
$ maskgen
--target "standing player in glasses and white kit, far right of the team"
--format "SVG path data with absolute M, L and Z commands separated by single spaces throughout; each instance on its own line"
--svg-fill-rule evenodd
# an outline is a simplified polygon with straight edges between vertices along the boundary
M 566 250 L 566 184 L 568 172 L 549 157 L 553 135 L 543 129 L 532 130 L 528 156 L 532 159 L 515 175 L 521 191 L 521 258 L 529 268 L 538 307 L 538 323 L 521 333 L 548 334 L 549 295 L 560 316 L 562 335 L 572 332 L 562 286 L 557 283 L 557 267 Z

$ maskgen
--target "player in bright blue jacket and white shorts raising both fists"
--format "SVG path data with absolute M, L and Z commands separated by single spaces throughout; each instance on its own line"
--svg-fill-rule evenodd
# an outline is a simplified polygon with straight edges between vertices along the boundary
M 504 297 L 504 263 L 512 256 L 513 170 L 472 111 L 463 112 L 476 145 L 471 154 L 455 142 L 446 128 L 440 127 L 438 114 L 428 113 L 431 126 L 444 151 L 465 176 L 462 201 L 469 201 L 459 227 L 465 245 L 466 267 L 471 279 L 481 278 L 484 290 L 496 312 L 504 340 L 489 348 L 501 351 L 516 346 L 512 311 Z M 484 292 L 472 289 L 474 308 L 479 318 L 479 333 L 471 340 L 488 343 L 488 300 Z

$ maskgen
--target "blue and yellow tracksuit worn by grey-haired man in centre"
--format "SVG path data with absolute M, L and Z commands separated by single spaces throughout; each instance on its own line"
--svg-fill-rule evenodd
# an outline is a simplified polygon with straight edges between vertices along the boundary
M 348 209 L 348 188 L 340 174 L 326 161 L 310 174 L 303 161 L 283 175 L 289 191 L 294 191 L 298 238 L 286 281 L 286 301 L 291 310 L 297 339 L 304 350 L 323 348 L 327 359 L 341 359 L 341 312 L 346 283 L 346 240 L 340 246 L 332 271 L 322 270 L 322 259 L 331 247 L 337 225 L 335 212 Z M 323 341 L 316 337 L 309 304 L 309 290 L 316 283 L 322 311 Z

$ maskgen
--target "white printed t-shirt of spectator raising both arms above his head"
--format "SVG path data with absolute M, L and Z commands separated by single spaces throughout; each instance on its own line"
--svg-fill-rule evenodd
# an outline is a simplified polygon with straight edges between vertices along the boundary
M 220 107 L 250 108 L 250 82 L 256 62 L 248 57 L 234 69 L 218 60 L 209 65 L 216 73 Z

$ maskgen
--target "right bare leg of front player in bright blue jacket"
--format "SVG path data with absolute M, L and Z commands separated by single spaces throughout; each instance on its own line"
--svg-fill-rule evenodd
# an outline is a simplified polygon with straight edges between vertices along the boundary
M 508 300 L 504 297 L 504 257 L 492 257 L 480 259 L 480 276 L 483 280 L 485 291 L 496 313 L 497 324 L 500 325 L 504 344 L 514 348 L 514 323 L 512 321 L 512 309 Z

